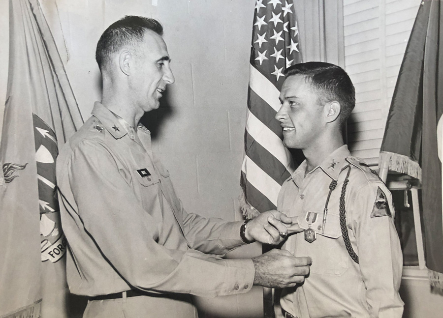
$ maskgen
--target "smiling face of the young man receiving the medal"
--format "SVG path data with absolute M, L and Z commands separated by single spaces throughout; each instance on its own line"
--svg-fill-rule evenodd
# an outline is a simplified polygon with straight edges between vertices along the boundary
M 306 149 L 316 145 L 325 128 L 324 105 L 303 75 L 289 76 L 280 93 L 282 106 L 275 118 L 283 128 L 288 148 Z

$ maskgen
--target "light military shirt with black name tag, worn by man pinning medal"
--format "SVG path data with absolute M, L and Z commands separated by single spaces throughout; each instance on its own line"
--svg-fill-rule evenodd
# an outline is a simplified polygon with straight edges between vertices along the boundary
M 246 292 L 252 260 L 223 260 L 242 222 L 187 213 L 169 173 L 135 131 L 100 103 L 57 161 L 71 292 L 142 289 L 201 296 Z M 171 300 L 173 301 L 173 300 Z

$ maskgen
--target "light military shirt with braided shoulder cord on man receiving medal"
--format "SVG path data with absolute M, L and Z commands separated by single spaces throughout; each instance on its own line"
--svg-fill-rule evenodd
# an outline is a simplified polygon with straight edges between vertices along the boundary
M 348 173 L 342 169 L 348 165 L 346 226 L 358 264 L 348 254 L 340 227 L 340 197 Z M 346 145 L 314 170 L 307 172 L 306 167 L 305 161 L 284 182 L 278 209 L 297 217 L 305 229 L 289 236 L 283 248 L 295 256 L 309 256 L 313 263 L 303 285 L 282 290 L 282 308 L 298 318 L 401 318 L 403 260 L 389 190 L 364 162 L 350 156 Z M 332 180 L 337 186 L 323 229 Z

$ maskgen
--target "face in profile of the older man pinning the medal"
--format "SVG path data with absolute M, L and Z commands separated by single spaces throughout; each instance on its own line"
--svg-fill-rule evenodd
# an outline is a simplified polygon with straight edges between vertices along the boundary
M 167 84 L 174 83 L 170 58 L 163 38 L 147 30 L 134 53 L 129 87 L 134 105 L 149 112 L 157 109 Z

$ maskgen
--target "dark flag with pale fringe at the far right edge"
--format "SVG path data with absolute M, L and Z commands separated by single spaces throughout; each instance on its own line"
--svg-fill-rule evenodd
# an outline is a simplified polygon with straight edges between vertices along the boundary
M 400 68 L 380 149 L 380 167 L 422 184 L 426 266 L 443 289 L 443 4 L 423 1 Z

